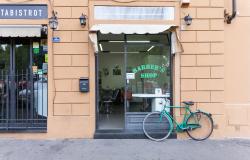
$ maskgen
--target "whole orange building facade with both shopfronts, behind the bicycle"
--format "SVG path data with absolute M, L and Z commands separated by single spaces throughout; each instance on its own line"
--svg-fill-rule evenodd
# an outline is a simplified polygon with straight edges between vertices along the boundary
M 212 113 L 212 138 L 250 137 L 250 40 L 245 36 L 250 3 L 237 0 L 237 16 L 227 24 L 224 10 L 231 13 L 231 3 L 0 0 L 0 137 L 95 138 L 117 130 L 142 134 L 141 119 L 158 102 L 139 93 L 156 93 L 157 88 L 169 104 L 193 100 L 193 109 Z M 52 11 L 58 18 L 54 31 Z M 86 25 L 80 24 L 81 15 Z M 187 15 L 191 25 L 184 21 Z M 173 43 L 175 34 L 183 52 L 173 51 L 179 45 Z M 140 72 L 138 78 L 149 64 L 157 73 Z M 182 110 L 172 113 L 181 120 Z

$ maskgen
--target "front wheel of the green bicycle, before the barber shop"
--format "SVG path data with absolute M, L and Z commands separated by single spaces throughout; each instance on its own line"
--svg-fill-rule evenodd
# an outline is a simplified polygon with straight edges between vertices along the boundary
M 172 130 L 171 118 L 161 112 L 152 112 L 143 120 L 143 131 L 151 140 L 162 141 L 170 136 Z

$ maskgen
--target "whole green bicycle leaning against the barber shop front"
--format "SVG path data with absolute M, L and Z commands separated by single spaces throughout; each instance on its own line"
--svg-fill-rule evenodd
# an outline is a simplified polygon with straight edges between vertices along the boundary
M 202 141 L 210 137 L 213 132 L 213 119 L 210 113 L 196 110 L 192 112 L 190 106 L 192 101 L 183 102 L 185 106 L 164 106 L 161 112 L 149 113 L 143 120 L 143 131 L 145 135 L 154 141 L 167 139 L 173 132 L 187 132 L 194 140 Z M 184 108 L 185 114 L 181 123 L 170 115 L 167 110 L 170 108 Z M 174 127 L 174 124 L 175 127 Z

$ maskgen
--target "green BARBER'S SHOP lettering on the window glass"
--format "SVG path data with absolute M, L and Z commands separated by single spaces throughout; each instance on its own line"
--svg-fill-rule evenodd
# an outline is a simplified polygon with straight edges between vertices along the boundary
M 151 70 L 151 72 L 149 72 L 150 70 Z M 144 72 L 144 71 L 147 71 L 147 72 Z M 135 74 L 138 73 L 138 72 L 143 72 L 140 75 L 140 77 L 143 78 L 143 79 L 157 78 L 158 73 L 156 73 L 156 72 L 164 73 L 165 71 L 166 71 L 165 67 L 155 65 L 155 64 L 143 64 L 143 65 L 137 66 L 137 67 L 132 69 L 132 72 L 135 73 Z

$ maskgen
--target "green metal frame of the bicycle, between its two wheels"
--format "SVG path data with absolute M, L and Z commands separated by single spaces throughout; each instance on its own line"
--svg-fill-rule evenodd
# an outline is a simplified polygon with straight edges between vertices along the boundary
M 184 117 L 183 117 L 183 120 L 181 123 L 178 123 L 176 121 L 176 119 L 166 111 L 166 108 L 185 108 L 185 114 L 184 114 Z M 199 110 L 198 110 L 199 111 Z M 189 108 L 189 106 L 164 106 L 164 109 L 161 111 L 161 114 L 162 115 L 166 115 L 168 117 L 171 118 L 172 120 L 172 124 L 176 124 L 176 132 L 185 132 L 185 130 L 187 129 L 195 129 L 195 128 L 199 128 L 200 125 L 199 124 L 192 124 L 192 127 L 190 127 L 190 125 L 187 124 L 187 119 L 192 115 L 194 114 L 195 112 L 192 112 Z M 174 127 L 174 126 L 173 126 Z

